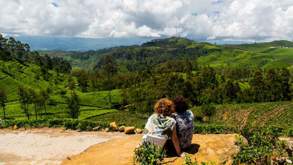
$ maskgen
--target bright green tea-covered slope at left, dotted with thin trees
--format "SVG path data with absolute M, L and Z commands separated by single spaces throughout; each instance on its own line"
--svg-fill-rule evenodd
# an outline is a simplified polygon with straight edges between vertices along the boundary
M 23 68 L 18 70 L 18 65 L 23 66 Z M 39 92 L 50 82 L 53 82 L 57 74 L 56 72 L 49 70 L 48 73 L 45 74 L 46 79 L 44 79 L 43 75 L 41 74 L 42 77 L 39 80 L 38 86 L 37 80 L 34 78 L 35 73 L 33 73 L 33 71 L 40 73 L 40 67 L 13 59 L 11 61 L 4 62 L 4 68 L 5 72 L 3 71 L 3 66 L 1 63 L 0 86 L 6 89 L 8 93 L 8 101 L 5 107 L 6 116 L 13 116 L 16 119 L 26 118 L 25 114 L 22 113 L 23 110 L 21 109 L 21 104 L 17 101 L 18 84 L 21 84 L 26 88 L 35 89 L 36 92 Z M 54 89 L 53 94 L 50 96 L 50 102 L 46 105 L 47 113 L 52 115 L 57 113 L 65 113 L 65 98 L 62 98 L 59 94 L 56 93 L 56 91 L 67 90 L 67 93 L 64 95 L 64 97 L 70 96 L 70 91 L 66 89 L 68 85 L 67 77 L 68 75 L 59 74 L 59 84 Z M 74 79 L 76 80 L 76 78 Z M 109 101 L 108 91 L 95 92 L 95 94 L 81 93 L 78 86 L 76 86 L 75 91 L 79 93 L 78 95 L 81 98 L 80 108 L 82 111 L 81 115 L 79 116 L 81 119 L 87 119 L 108 112 L 117 111 L 114 109 L 115 105 L 120 104 L 119 90 L 111 91 L 112 103 Z M 29 110 L 32 115 L 35 115 L 33 105 L 29 107 Z M 44 112 L 45 110 L 42 109 L 42 113 Z M 0 118 L 4 118 L 2 108 L 0 110 Z

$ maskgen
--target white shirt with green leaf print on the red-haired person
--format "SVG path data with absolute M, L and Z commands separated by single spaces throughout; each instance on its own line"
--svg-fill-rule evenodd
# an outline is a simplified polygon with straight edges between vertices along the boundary
M 170 116 L 153 114 L 147 120 L 143 135 L 161 139 L 171 139 L 174 124 L 174 118 L 171 118 Z

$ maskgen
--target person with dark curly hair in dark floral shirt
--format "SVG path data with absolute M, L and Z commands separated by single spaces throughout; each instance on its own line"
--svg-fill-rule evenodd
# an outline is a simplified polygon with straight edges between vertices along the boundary
M 188 109 L 187 100 L 179 95 L 173 98 L 173 104 L 177 114 L 173 114 L 176 121 L 176 134 L 179 141 L 180 149 L 188 149 L 191 145 L 193 130 L 194 130 L 194 116 L 191 110 Z M 175 147 L 173 142 L 171 146 Z

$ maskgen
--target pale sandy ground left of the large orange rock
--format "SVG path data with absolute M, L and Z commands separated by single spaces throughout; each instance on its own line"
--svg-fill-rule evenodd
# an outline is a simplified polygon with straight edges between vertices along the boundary
M 141 134 L 140 134 L 141 135 Z M 124 132 L 77 132 L 64 128 L 0 129 L 0 165 L 60 164 L 67 157 Z

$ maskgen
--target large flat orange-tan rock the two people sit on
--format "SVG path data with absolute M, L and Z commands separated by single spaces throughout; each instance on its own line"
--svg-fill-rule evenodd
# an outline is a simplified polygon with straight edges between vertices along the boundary
M 230 156 L 240 146 L 236 134 L 193 135 L 191 147 L 184 152 L 190 154 L 192 161 L 217 161 L 231 165 Z M 242 137 L 242 136 L 241 136 Z M 244 137 L 242 137 L 244 138 Z M 61 164 L 132 164 L 134 148 L 142 140 L 142 136 L 119 137 L 95 144 L 84 152 L 64 160 Z M 244 138 L 244 143 L 248 144 Z M 183 159 L 175 151 L 167 148 L 166 160 L 171 164 L 182 164 Z

